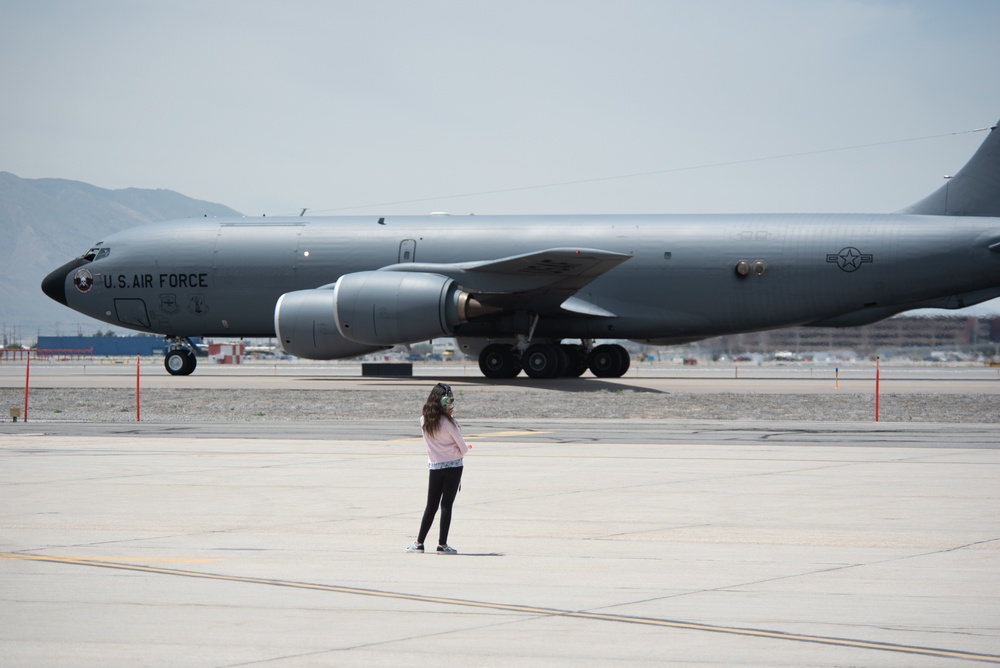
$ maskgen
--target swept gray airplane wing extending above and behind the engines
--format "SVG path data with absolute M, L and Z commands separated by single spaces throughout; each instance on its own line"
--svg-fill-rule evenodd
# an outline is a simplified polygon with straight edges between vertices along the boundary
M 593 248 L 550 248 L 497 260 L 433 264 L 409 262 L 383 271 L 439 274 L 453 279 L 480 303 L 539 312 L 559 308 L 573 313 L 612 317 L 576 293 L 631 255 Z

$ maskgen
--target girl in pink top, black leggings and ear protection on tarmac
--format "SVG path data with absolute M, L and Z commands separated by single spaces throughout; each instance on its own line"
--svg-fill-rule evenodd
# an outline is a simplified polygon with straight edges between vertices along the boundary
M 431 389 L 420 416 L 420 428 L 427 446 L 427 465 L 430 477 L 427 482 L 427 506 L 420 522 L 417 540 L 407 552 L 423 552 L 424 538 L 430 531 L 441 507 L 441 524 L 438 534 L 438 554 L 458 554 L 458 550 L 448 545 L 448 530 L 451 528 L 451 507 L 455 503 L 462 483 L 462 459 L 472 446 L 462 438 L 462 430 L 452 417 L 455 395 L 451 387 L 438 383 Z

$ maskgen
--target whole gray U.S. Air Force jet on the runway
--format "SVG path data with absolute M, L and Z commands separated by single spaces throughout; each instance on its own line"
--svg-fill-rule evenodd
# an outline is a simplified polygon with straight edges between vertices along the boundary
M 865 325 L 1000 297 L 1000 132 L 894 214 L 196 218 L 109 235 L 42 290 L 162 334 L 355 357 L 456 338 L 489 378 L 617 377 L 624 347 Z

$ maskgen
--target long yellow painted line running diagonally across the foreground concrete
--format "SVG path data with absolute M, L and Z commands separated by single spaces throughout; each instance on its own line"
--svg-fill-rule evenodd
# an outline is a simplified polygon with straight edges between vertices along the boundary
M 529 615 L 568 617 L 572 619 L 589 619 L 592 621 L 617 622 L 624 624 L 640 624 L 644 626 L 655 626 L 661 628 L 685 629 L 688 631 L 706 631 L 710 633 L 724 633 L 728 635 L 754 637 L 754 638 L 769 638 L 772 640 L 806 642 L 812 644 L 827 645 L 832 647 L 853 647 L 857 649 L 870 649 L 880 652 L 899 652 L 903 654 L 915 654 L 920 656 L 932 656 L 932 657 L 946 658 L 946 659 L 961 659 L 965 661 L 981 661 L 985 663 L 1000 664 L 1000 656 L 995 654 L 980 654 L 977 652 L 965 652 L 962 650 L 943 649 L 937 647 L 921 647 L 919 645 L 900 645 L 896 643 L 885 643 L 874 640 L 836 638 L 831 636 L 815 636 L 802 633 L 786 633 L 784 631 L 743 628 L 739 626 L 717 626 L 713 624 L 701 624 L 697 622 L 685 622 L 673 619 L 658 619 L 655 617 L 637 617 L 632 615 L 612 615 L 599 612 L 559 610 L 558 608 L 542 608 L 531 605 L 513 605 L 508 603 L 491 603 L 489 601 L 470 601 L 460 598 L 443 598 L 439 596 L 405 594 L 402 592 L 381 591 L 378 589 L 363 589 L 359 587 L 344 587 L 340 585 L 324 585 L 311 582 L 272 580 L 267 578 L 252 578 L 252 577 L 243 577 L 236 575 L 222 575 L 219 573 L 199 573 L 197 571 L 182 571 L 172 568 L 157 568 L 154 566 L 122 564 L 122 563 L 114 563 L 108 561 L 99 561 L 99 560 L 76 558 L 76 557 L 51 557 L 51 556 L 32 555 L 32 554 L 0 553 L 0 559 L 21 559 L 27 561 L 75 564 L 78 566 L 95 566 L 98 568 L 111 568 L 124 571 L 135 571 L 140 573 L 155 573 L 157 575 L 174 575 L 174 576 L 197 578 L 203 580 L 217 580 L 222 582 L 242 582 L 245 584 L 271 585 L 276 587 L 288 587 L 292 589 L 329 591 L 340 594 L 373 596 L 378 598 L 389 598 L 395 600 L 418 601 L 421 603 L 440 603 L 442 605 L 457 605 L 469 608 L 499 610 L 502 612 L 520 612 Z

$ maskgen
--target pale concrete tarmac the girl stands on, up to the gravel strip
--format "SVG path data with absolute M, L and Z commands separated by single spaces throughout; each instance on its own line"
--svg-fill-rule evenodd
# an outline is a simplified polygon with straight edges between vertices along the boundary
M 462 423 L 457 556 L 412 421 L 0 424 L 0 664 L 1000 663 L 995 427 Z

